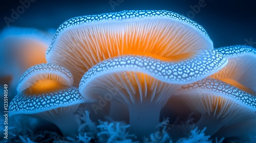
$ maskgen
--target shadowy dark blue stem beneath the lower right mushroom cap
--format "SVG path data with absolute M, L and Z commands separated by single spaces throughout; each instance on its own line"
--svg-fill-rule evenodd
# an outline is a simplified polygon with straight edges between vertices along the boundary
M 222 127 L 222 123 L 220 123 L 218 119 L 211 117 L 208 114 L 203 114 L 195 125 L 198 126 L 200 130 L 207 127 L 204 132 L 205 135 L 213 135 Z

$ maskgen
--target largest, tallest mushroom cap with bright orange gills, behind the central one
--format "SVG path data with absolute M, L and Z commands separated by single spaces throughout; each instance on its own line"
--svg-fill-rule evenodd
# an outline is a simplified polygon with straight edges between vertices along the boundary
M 212 41 L 196 22 L 169 11 L 121 11 L 74 17 L 59 26 L 46 57 L 68 68 L 74 86 L 102 60 L 150 53 L 170 57 L 213 49 Z

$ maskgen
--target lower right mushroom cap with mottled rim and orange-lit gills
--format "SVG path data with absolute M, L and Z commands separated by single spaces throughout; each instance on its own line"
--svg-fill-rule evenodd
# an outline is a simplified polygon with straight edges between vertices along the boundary
M 216 79 L 205 78 L 183 85 L 170 100 L 186 105 L 195 113 L 208 114 L 223 126 L 256 117 L 255 96 Z

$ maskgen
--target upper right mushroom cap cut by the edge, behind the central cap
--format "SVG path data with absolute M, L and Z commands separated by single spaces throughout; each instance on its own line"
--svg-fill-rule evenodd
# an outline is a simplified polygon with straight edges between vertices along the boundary
M 215 51 L 223 54 L 228 59 L 228 64 L 217 73 L 211 75 L 210 78 L 233 83 L 233 85 L 238 85 L 239 83 L 241 85 L 237 87 L 248 92 L 250 92 L 250 89 L 256 90 L 256 49 L 247 45 L 234 45 L 220 47 Z

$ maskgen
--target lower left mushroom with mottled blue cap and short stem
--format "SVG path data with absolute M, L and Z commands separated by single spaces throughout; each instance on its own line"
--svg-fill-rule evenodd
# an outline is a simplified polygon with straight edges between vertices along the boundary
M 26 114 L 39 117 L 57 125 L 65 136 L 75 134 L 78 125 L 73 113 L 85 101 L 78 88 L 62 85 L 59 82 L 55 84 L 59 84 L 58 88 L 51 91 L 38 92 L 25 89 L 19 92 L 10 103 L 9 116 Z

